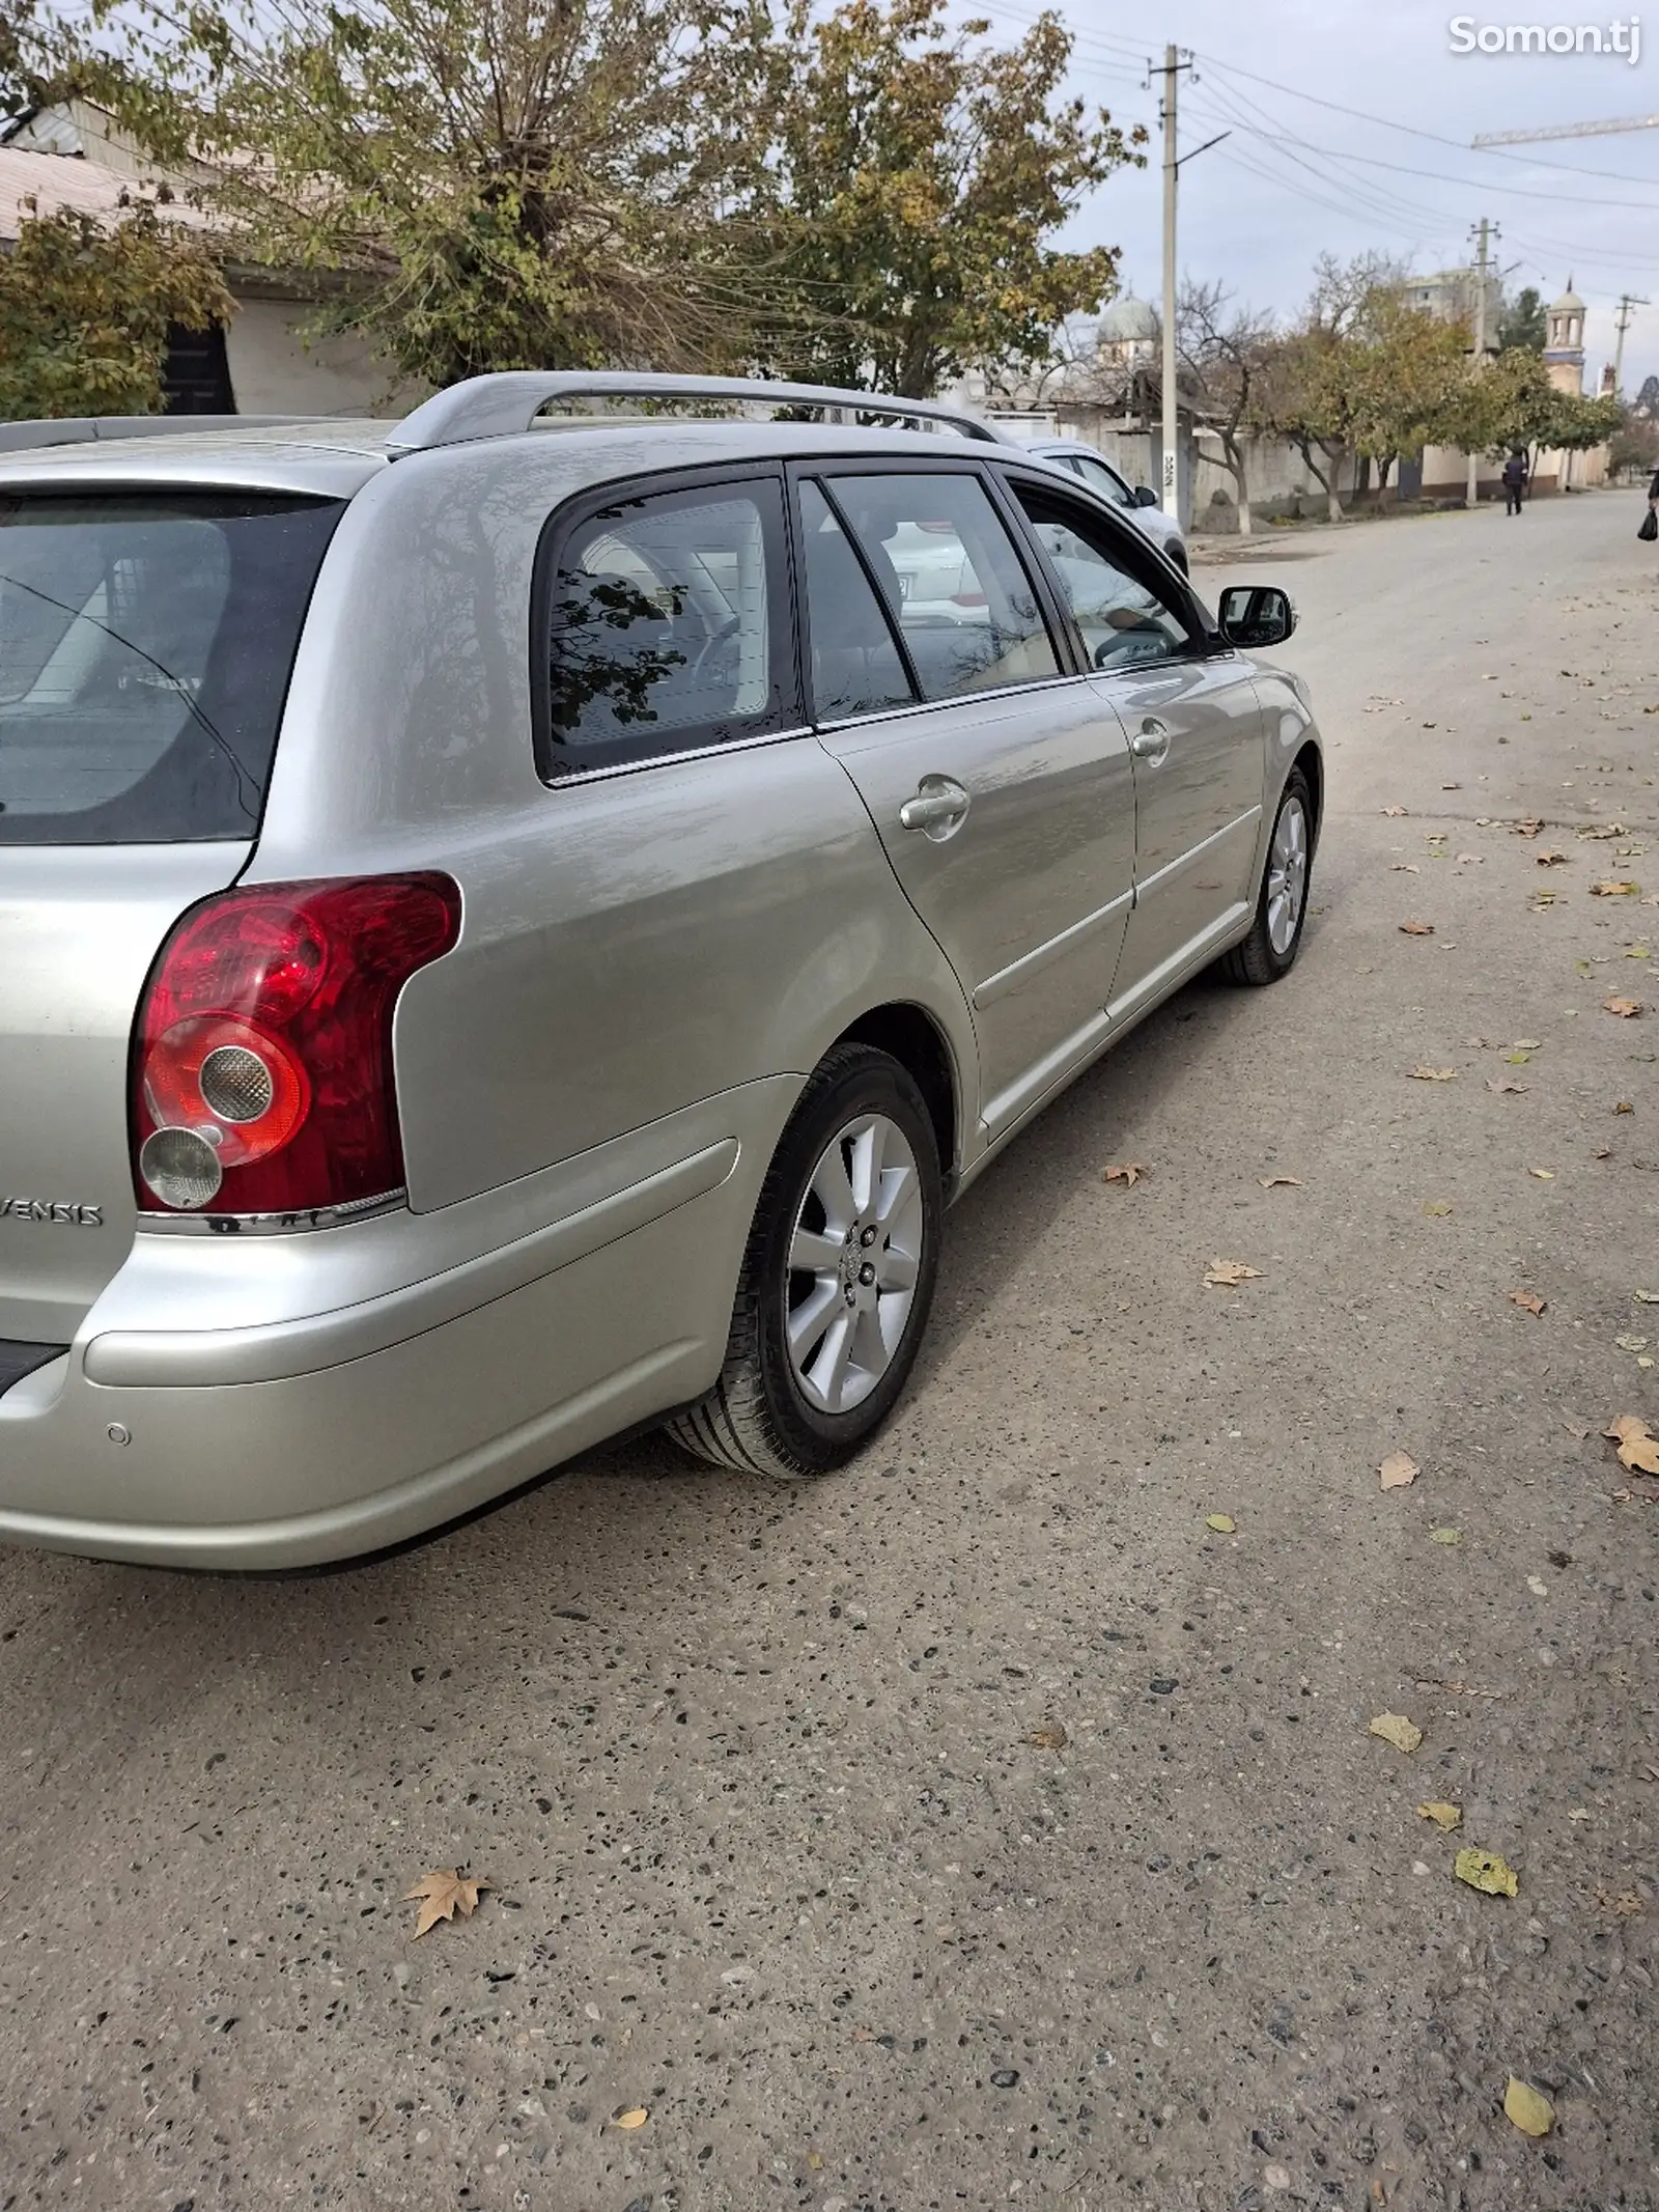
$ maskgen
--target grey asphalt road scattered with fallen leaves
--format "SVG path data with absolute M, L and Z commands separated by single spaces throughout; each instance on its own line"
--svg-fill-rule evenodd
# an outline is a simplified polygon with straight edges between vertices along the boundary
M 1637 509 L 1263 549 L 1303 960 L 962 1201 L 854 1473 L 646 1440 L 332 1577 L 0 1557 L 0 2208 L 1659 2203 L 1659 1484 L 1599 1436 L 1659 1429 L 1659 911 L 1588 896 L 1659 889 Z

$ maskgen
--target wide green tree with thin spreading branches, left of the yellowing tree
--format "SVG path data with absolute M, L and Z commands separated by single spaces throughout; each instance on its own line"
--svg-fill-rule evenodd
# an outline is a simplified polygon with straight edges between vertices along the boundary
M 732 361 L 761 0 L 95 0 L 80 82 L 407 378 Z

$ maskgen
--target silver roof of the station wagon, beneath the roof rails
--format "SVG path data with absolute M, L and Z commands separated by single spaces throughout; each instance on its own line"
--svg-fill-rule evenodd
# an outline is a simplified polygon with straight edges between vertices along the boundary
M 1013 442 L 987 445 L 953 431 L 883 429 L 834 422 L 743 422 L 734 418 L 573 414 L 542 416 L 529 431 L 400 451 L 400 422 L 319 418 L 248 427 L 177 429 L 168 436 L 88 436 L 80 442 L 0 451 L 0 491 L 75 489 L 254 489 L 352 498 L 387 467 L 411 469 L 445 456 L 480 458 L 515 445 L 568 445 L 571 489 L 653 469 L 719 462 L 883 456 L 916 460 L 1033 458 Z

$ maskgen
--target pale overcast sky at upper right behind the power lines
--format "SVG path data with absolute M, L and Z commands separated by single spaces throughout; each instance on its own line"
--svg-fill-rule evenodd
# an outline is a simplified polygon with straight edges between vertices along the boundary
M 973 7 L 1002 35 L 1037 0 Z M 1548 303 L 1568 274 L 1588 303 L 1588 376 L 1613 354 L 1621 292 L 1646 294 L 1624 352 L 1624 389 L 1659 372 L 1659 128 L 1475 153 L 1478 131 L 1522 131 L 1659 115 L 1659 7 L 1639 20 L 1641 53 L 1458 55 L 1449 24 L 1599 24 L 1630 13 L 1586 0 L 1175 0 L 1172 7 L 1062 7 L 1075 33 L 1073 82 L 1121 124 L 1157 137 L 1146 60 L 1166 40 L 1190 49 L 1181 80 L 1183 150 L 1219 131 L 1225 144 L 1181 170 L 1181 270 L 1221 279 L 1241 301 L 1281 312 L 1307 296 L 1314 257 L 1383 248 L 1418 270 L 1469 259 L 1469 226 L 1502 228 L 1498 268 L 1511 290 Z M 1626 31 L 1626 42 L 1630 33 Z M 1648 51 L 1652 40 L 1652 53 Z M 1312 97 L 1310 97 L 1312 95 Z M 1329 102 L 1318 106 L 1316 102 Z M 1356 113 L 1343 113 L 1356 111 Z M 1148 148 L 1157 153 L 1157 148 Z M 1079 212 L 1066 243 L 1124 248 L 1124 281 L 1146 299 L 1161 283 L 1157 161 L 1124 170 Z

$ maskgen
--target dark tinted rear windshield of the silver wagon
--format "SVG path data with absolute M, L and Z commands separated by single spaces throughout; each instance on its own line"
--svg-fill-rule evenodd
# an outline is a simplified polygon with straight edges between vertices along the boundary
M 0 845 L 259 827 L 341 500 L 0 495 Z

